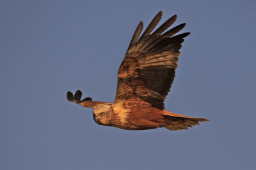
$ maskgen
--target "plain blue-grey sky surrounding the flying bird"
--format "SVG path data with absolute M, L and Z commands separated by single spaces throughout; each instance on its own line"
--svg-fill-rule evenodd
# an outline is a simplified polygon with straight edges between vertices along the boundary
M 166 110 L 187 131 L 124 131 L 68 103 L 113 102 L 141 20 L 190 31 Z M 255 1 L 0 1 L 0 169 L 255 169 Z

